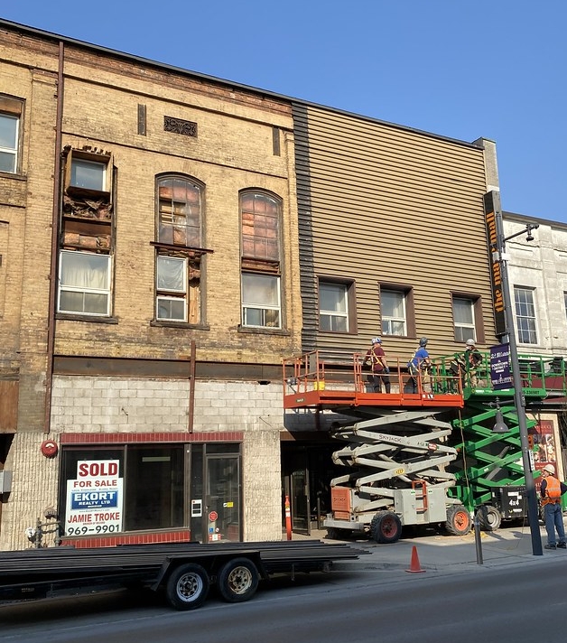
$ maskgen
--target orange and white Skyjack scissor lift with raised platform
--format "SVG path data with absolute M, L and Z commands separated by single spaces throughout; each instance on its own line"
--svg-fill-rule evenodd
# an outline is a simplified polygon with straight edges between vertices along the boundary
M 363 532 L 378 543 L 394 543 L 403 525 L 442 523 L 467 534 L 470 513 L 447 490 L 457 458 L 447 444 L 448 410 L 462 408 L 460 377 L 435 372 L 412 377 L 399 362 L 390 366 L 390 393 L 376 393 L 362 369 L 321 359 L 319 351 L 284 359 L 284 408 L 334 411 L 360 418 L 331 428 L 345 446 L 333 453 L 349 472 L 330 481 L 331 512 L 323 522 L 330 536 Z M 370 419 L 365 419 L 365 418 Z

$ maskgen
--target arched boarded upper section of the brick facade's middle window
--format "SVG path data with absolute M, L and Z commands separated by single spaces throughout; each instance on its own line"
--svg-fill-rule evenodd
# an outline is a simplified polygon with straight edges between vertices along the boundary
M 179 246 L 200 247 L 202 188 L 181 177 L 158 182 L 158 241 Z

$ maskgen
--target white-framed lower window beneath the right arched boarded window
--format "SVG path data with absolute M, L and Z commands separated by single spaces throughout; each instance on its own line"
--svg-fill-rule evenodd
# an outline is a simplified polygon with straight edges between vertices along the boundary
M 281 328 L 280 278 L 242 275 L 242 323 L 256 328 Z

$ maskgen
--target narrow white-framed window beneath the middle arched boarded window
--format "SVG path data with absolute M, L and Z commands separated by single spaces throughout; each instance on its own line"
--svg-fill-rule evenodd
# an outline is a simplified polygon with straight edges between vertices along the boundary
M 180 256 L 157 256 L 156 319 L 187 321 L 187 259 Z

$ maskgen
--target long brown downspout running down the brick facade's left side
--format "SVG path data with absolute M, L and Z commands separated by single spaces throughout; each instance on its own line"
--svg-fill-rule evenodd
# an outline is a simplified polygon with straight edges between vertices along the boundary
M 57 295 L 57 255 L 59 251 L 59 207 L 61 172 L 61 123 L 63 119 L 63 58 L 64 44 L 59 43 L 57 72 L 57 115 L 55 120 L 55 158 L 53 161 L 53 208 L 51 213 L 51 266 L 49 312 L 47 317 L 47 366 L 45 372 L 45 415 L 43 431 L 51 431 L 51 390 L 53 387 L 53 352 L 55 349 L 55 297 Z

